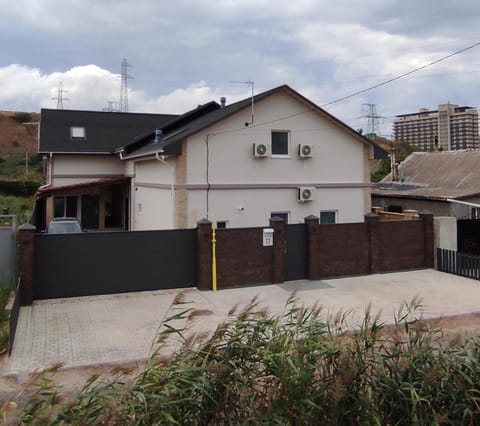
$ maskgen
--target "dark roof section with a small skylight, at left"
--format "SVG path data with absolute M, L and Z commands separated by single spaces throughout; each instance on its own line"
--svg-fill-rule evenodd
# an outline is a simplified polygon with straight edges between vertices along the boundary
M 162 127 L 173 114 L 139 114 L 42 109 L 39 153 L 113 153 L 139 135 Z M 71 138 L 72 127 L 83 127 L 85 138 Z

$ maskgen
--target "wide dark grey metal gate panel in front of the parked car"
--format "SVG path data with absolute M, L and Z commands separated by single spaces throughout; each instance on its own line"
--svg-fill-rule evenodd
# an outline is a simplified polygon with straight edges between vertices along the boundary
M 197 231 L 35 235 L 34 299 L 194 287 Z

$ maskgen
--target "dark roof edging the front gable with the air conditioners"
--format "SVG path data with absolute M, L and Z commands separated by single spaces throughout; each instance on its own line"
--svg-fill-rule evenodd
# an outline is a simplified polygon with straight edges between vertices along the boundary
M 376 150 L 376 153 L 384 152 L 382 148 L 378 147 L 378 145 L 372 142 L 370 139 L 360 135 L 354 129 L 347 126 L 345 123 L 335 118 L 333 115 L 329 114 L 327 111 L 323 110 L 318 105 L 300 95 L 300 93 L 296 92 L 287 85 L 282 85 L 254 96 L 253 103 L 256 104 L 262 99 L 265 99 L 280 91 L 288 92 L 290 95 L 296 97 L 302 103 L 306 104 L 309 107 L 309 110 L 316 110 L 325 118 L 334 122 L 337 126 L 342 127 L 352 136 L 356 137 L 359 141 L 373 146 Z M 183 114 L 180 117 L 172 120 L 170 123 L 167 123 L 162 128 L 163 139 L 161 143 L 155 143 L 155 133 L 152 129 L 150 133 L 144 135 L 143 137 L 137 138 L 119 151 L 122 151 L 126 157 L 146 156 L 156 152 L 163 152 L 165 154 L 179 154 L 181 152 L 180 144 L 183 139 L 199 132 L 200 130 L 212 126 L 213 124 L 218 123 L 239 111 L 242 111 L 246 108 L 251 108 L 251 105 L 252 98 L 246 98 L 223 108 L 216 102 L 210 102 L 208 104 L 201 105 L 197 109 L 189 111 L 186 114 Z M 253 123 L 253 126 L 255 126 L 255 123 Z

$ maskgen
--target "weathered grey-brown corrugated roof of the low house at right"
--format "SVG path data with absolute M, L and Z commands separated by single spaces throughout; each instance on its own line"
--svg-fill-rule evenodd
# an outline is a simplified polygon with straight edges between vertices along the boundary
M 399 166 L 402 182 L 388 175 L 373 194 L 397 197 L 463 198 L 480 193 L 480 151 L 414 152 Z

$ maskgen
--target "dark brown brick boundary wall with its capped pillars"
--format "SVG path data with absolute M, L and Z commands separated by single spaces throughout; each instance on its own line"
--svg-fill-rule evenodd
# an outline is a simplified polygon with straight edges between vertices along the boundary
M 308 216 L 305 218 L 306 247 L 288 247 L 288 250 L 305 250 L 304 278 L 310 280 L 433 268 L 433 215 L 422 212 L 419 216 L 414 220 L 382 222 L 379 216 L 369 213 L 363 223 L 333 225 L 321 225 L 318 217 Z M 269 228 L 274 230 L 271 246 L 263 245 L 265 227 L 216 230 L 217 288 L 284 282 L 286 226 L 280 218 L 270 220 Z M 35 229 L 28 226 L 20 227 L 18 233 L 22 305 L 31 304 L 34 295 L 34 233 Z M 211 290 L 212 223 L 209 220 L 198 222 L 196 243 L 196 285 L 199 290 Z M 137 256 L 142 255 L 142 247 L 131 247 L 131 250 Z M 149 267 L 161 273 L 157 264 Z M 161 278 L 159 276 L 159 280 Z

